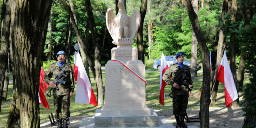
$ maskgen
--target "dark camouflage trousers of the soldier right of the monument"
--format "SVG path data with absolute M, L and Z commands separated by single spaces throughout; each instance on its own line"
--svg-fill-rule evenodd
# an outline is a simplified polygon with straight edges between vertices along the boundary
M 173 115 L 174 116 L 187 115 L 187 102 L 188 102 L 188 95 L 173 95 L 173 98 L 172 98 Z

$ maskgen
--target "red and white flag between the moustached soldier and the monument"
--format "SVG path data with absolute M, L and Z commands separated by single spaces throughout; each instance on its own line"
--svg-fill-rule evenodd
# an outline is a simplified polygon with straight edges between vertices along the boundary
M 97 106 L 97 100 L 93 88 L 89 81 L 88 75 L 84 68 L 82 58 L 79 53 L 75 52 L 74 74 L 76 82 L 75 103 L 93 104 Z

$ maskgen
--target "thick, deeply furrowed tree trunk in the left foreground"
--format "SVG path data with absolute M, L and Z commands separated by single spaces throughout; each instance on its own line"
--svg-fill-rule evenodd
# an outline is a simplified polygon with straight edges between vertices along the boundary
M 12 1 L 11 55 L 22 128 L 40 127 L 39 76 L 51 6 L 52 0 Z

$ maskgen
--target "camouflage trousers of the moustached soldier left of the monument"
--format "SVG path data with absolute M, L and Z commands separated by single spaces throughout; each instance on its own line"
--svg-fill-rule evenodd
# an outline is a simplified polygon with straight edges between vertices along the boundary
M 70 106 L 70 100 L 69 100 L 69 94 L 68 95 L 63 95 L 59 96 L 54 94 L 54 106 L 55 106 L 55 118 L 57 120 L 63 119 L 69 119 L 70 117 L 70 111 L 69 111 L 69 106 Z M 63 114 L 61 114 L 61 106 L 63 104 Z

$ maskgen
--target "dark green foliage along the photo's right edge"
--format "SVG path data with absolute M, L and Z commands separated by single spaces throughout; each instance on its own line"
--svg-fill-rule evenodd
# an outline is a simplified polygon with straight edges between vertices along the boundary
M 249 84 L 246 84 L 244 89 L 244 97 L 247 100 L 245 111 L 245 116 L 249 118 L 255 118 L 256 116 L 256 16 L 250 22 L 250 25 L 243 29 L 243 34 L 245 35 L 247 42 L 247 52 L 246 52 L 246 66 L 245 68 L 252 75 Z M 245 127 L 249 127 L 252 124 L 244 124 Z M 255 126 L 254 126 L 255 127 Z

